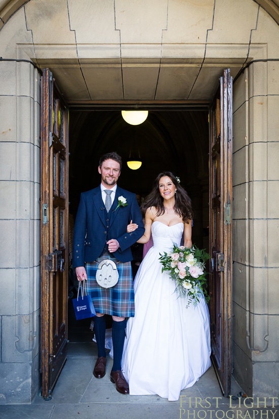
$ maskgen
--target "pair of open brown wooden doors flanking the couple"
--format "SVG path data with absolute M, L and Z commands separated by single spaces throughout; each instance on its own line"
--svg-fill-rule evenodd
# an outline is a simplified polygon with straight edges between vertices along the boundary
M 66 362 L 68 303 L 68 109 L 48 69 L 42 77 L 41 370 L 42 396 Z M 210 122 L 210 313 L 212 362 L 225 396 L 231 381 L 231 142 L 229 70 L 208 110 Z

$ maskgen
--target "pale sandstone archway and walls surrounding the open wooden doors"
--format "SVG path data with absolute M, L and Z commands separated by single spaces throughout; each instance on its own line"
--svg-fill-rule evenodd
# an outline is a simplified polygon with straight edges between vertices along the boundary
M 136 14 L 129 10 L 125 20 L 121 0 L 107 0 L 105 10 L 98 7 L 104 2 L 93 2 L 93 10 L 92 2 L 84 0 L 89 5 L 81 8 L 86 19 L 75 9 L 80 2 L 0 0 L 0 56 L 11 59 L 0 60 L 1 181 L 10 197 L 0 217 L 7 243 L 0 269 L 10 279 L 0 301 L 3 333 L 9 332 L 0 366 L 7 371 L 8 403 L 15 400 L 15 370 L 25 379 L 24 402 L 40 385 L 40 74 L 14 59 L 50 67 L 71 106 L 77 101 L 80 106 L 119 100 L 209 101 L 224 68 L 231 67 L 235 76 L 248 61 L 262 60 L 234 84 L 233 350 L 234 373 L 249 394 L 272 395 L 276 389 L 277 207 L 272 191 L 279 178 L 278 0 L 156 2 L 150 9 L 156 25 L 150 14 L 145 19 L 139 13 L 141 25 L 134 22 L 131 30 L 129 21 Z M 136 4 L 141 12 L 144 3 Z M 178 12 L 177 5 L 182 8 Z

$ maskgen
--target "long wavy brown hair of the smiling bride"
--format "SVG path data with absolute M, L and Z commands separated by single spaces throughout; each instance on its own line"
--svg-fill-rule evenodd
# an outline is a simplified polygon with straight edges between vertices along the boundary
M 141 206 L 141 210 L 142 210 L 143 214 L 145 215 L 146 210 L 150 207 L 155 207 L 156 208 L 156 210 L 157 210 L 156 216 L 157 217 L 159 215 L 164 214 L 164 212 L 165 212 L 165 208 L 164 208 L 164 204 L 163 204 L 164 200 L 163 200 L 163 197 L 161 196 L 160 190 L 159 190 L 159 182 L 160 182 L 160 179 L 163 176 L 168 176 L 171 179 L 172 183 L 177 188 L 177 191 L 176 191 L 176 194 L 175 194 L 175 205 L 174 205 L 173 209 L 175 210 L 175 213 L 179 217 L 182 217 L 183 221 L 188 224 L 188 221 L 192 220 L 193 216 L 194 216 L 193 210 L 192 210 L 192 201 L 191 201 L 190 197 L 188 196 L 186 190 L 183 189 L 182 186 L 180 186 L 180 183 L 178 182 L 177 178 L 171 172 L 162 172 L 156 177 L 156 179 L 154 181 L 154 186 L 153 186 L 152 191 L 145 198 L 145 200 L 144 200 L 144 202 Z

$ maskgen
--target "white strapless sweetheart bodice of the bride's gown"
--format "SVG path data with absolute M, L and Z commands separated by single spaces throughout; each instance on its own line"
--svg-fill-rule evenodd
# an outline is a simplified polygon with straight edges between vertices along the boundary
M 153 247 L 160 251 L 167 251 L 172 249 L 174 243 L 180 246 L 183 229 L 183 222 L 166 225 L 160 221 L 154 221 L 151 227 Z

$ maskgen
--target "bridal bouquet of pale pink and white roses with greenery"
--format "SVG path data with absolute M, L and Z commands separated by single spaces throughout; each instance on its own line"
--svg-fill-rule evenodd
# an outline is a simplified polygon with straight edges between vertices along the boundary
M 197 304 L 203 294 L 206 303 L 210 300 L 203 285 L 206 282 L 204 266 L 210 255 L 204 249 L 195 246 L 191 248 L 173 245 L 169 253 L 160 253 L 159 261 L 163 265 L 162 272 L 168 271 L 169 276 L 176 280 L 177 291 L 180 297 L 188 297 L 188 306 L 191 302 Z

